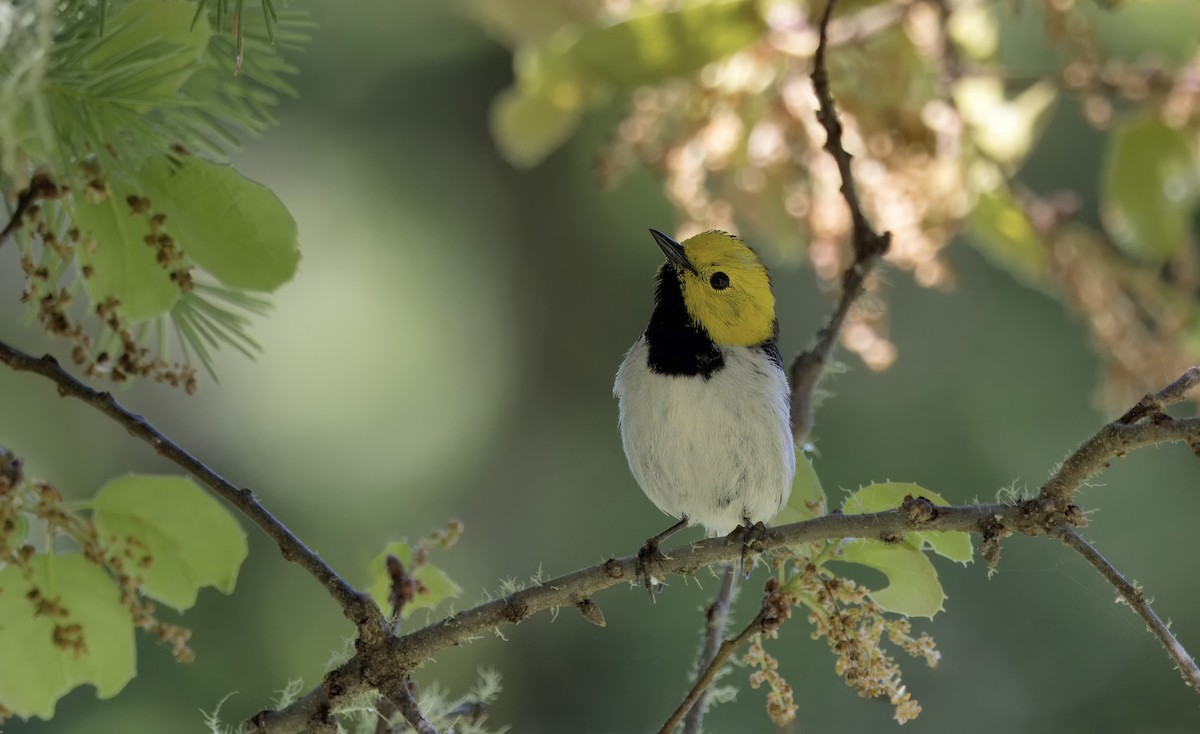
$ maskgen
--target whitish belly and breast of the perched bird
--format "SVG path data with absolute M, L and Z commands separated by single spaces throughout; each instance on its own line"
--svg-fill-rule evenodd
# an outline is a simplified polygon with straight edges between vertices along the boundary
M 709 379 L 664 375 L 638 339 L 617 371 L 620 439 L 634 479 L 659 510 L 709 534 L 767 522 L 796 474 L 784 371 L 761 350 L 721 347 Z

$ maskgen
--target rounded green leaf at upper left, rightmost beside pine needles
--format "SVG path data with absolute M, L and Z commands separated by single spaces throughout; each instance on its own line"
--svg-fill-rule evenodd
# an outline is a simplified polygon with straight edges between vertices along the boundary
M 154 158 L 139 181 L 175 243 L 224 285 L 275 290 L 295 275 L 296 223 L 270 188 L 193 157 Z

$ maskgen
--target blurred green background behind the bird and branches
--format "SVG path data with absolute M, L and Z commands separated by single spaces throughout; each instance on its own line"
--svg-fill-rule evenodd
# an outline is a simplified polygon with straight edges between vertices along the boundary
M 511 59 L 476 25 L 446 4 L 413 0 L 312 12 L 320 28 L 294 58 L 301 96 L 284 104 L 278 130 L 236 158 L 294 212 L 304 248 L 298 278 L 254 331 L 264 354 L 257 362 L 223 354 L 221 384 L 203 384 L 196 397 L 142 385 L 120 399 L 253 488 L 359 583 L 389 541 L 415 540 L 450 517 L 466 535 L 433 560 L 466 590 L 456 608 L 504 578 L 632 553 L 667 518 L 629 475 L 611 385 L 649 315 L 660 254 L 647 228 L 670 230 L 673 213 L 649 176 L 605 191 L 592 173 L 619 102 L 545 164 L 518 173 L 486 127 Z M 1048 58 L 1039 43 L 1027 17 L 1007 26 L 1004 48 L 1030 62 Z M 1091 206 L 1099 145 L 1100 133 L 1064 100 L 1022 180 L 1034 191 L 1074 188 Z M 13 248 L 0 258 L 2 338 L 34 353 L 59 348 L 19 326 Z M 899 361 L 882 374 L 848 362 L 828 385 L 835 395 L 817 416 L 816 467 L 833 501 L 872 480 L 916 481 L 954 503 L 1036 488 L 1111 417 L 1093 408 L 1094 359 L 1060 303 L 968 247 L 949 258 L 959 271 L 952 293 L 884 273 Z M 790 355 L 829 305 L 798 258 L 772 265 Z M 68 497 L 89 497 L 125 471 L 174 471 L 41 378 L 0 371 L 0 445 Z M 1087 537 L 1145 585 L 1193 649 L 1195 461 L 1182 446 L 1142 451 L 1082 497 L 1099 509 Z M 82 688 L 54 721 L 5 730 L 202 732 L 200 710 L 230 693 L 222 716 L 234 722 L 269 708 L 292 678 L 316 685 L 352 627 L 247 530 L 236 592 L 208 590 L 179 620 L 194 630 L 193 664 L 139 639 L 139 675 L 115 699 Z M 1195 693 L 1072 552 L 1012 539 L 991 579 L 982 564 L 937 564 L 946 613 L 917 628 L 944 657 L 932 670 L 902 661 L 925 708 L 906 730 L 1200 732 Z M 746 583 L 733 625 L 754 613 L 762 573 Z M 706 573 L 698 582 L 674 580 L 655 604 L 640 590 L 610 590 L 596 597 L 607 628 L 574 612 L 542 614 L 505 630 L 506 640 L 440 654 L 416 678 L 458 693 L 479 668 L 497 669 L 504 693 L 488 714 L 512 732 L 656 729 L 686 690 L 701 609 L 716 589 Z M 794 730 L 894 730 L 892 708 L 857 699 L 809 631 L 793 619 L 770 646 L 796 688 Z M 744 673 L 727 680 L 742 690 L 709 715 L 710 730 L 770 730 L 764 693 Z

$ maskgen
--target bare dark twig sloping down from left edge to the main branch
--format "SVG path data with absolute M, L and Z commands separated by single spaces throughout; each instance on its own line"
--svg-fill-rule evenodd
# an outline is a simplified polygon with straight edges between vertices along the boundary
M 64 369 L 50 355 L 41 359 L 0 342 L 0 361 L 17 372 L 32 372 L 50 379 L 58 385 L 59 395 L 73 397 L 88 403 L 108 417 L 120 423 L 131 435 L 137 437 L 160 456 L 208 486 L 221 499 L 226 500 L 274 540 L 283 558 L 299 564 L 325 588 L 334 601 L 342 608 L 346 616 L 355 624 L 365 638 L 372 639 L 386 633 L 386 622 L 371 598 L 356 591 L 354 586 L 337 574 L 317 553 L 308 548 L 292 530 L 280 522 L 254 498 L 254 493 L 234 486 L 223 476 L 210 469 L 198 458 L 185 451 L 179 444 L 163 435 L 140 415 L 131 413 L 108 392 L 92 390 Z

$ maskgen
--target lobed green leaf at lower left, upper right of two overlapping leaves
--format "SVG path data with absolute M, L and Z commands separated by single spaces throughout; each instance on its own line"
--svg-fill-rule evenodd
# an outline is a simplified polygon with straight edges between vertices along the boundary
M 246 560 L 246 533 L 216 499 L 182 476 L 131 474 L 115 479 L 92 501 L 100 537 L 127 547 L 148 565 L 142 577 L 148 596 L 174 607 L 196 604 L 200 586 L 233 591 Z

